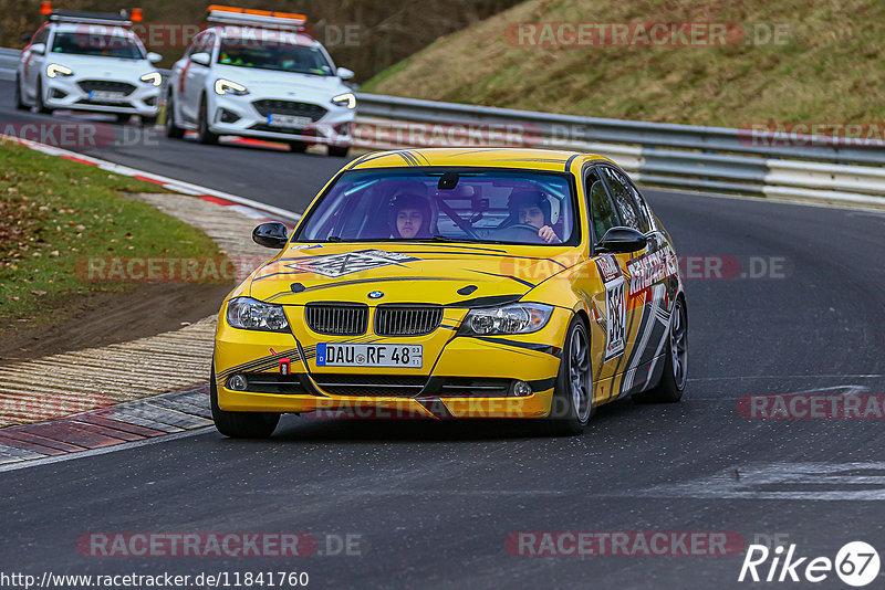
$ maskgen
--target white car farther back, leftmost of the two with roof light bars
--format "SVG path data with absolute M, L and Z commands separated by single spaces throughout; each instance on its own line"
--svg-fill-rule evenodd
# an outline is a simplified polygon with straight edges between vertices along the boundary
M 145 51 L 125 17 L 55 10 L 22 50 L 15 106 L 112 113 L 118 120 L 157 119 L 162 56 Z

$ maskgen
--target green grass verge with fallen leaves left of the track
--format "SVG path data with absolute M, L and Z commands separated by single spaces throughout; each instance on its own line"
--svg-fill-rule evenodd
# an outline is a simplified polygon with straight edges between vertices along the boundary
M 218 255 L 204 232 L 122 192 L 166 191 L 0 140 L 0 322 L 48 327 L 71 296 L 134 287 L 80 278 L 79 259 Z

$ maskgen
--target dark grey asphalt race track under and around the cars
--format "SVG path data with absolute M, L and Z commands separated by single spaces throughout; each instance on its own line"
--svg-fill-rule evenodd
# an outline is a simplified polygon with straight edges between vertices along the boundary
M 0 84 L 2 122 L 22 116 L 10 103 Z M 91 154 L 292 209 L 342 164 L 165 139 Z M 334 589 L 723 589 L 748 586 L 737 581 L 742 555 L 529 557 L 510 555 L 504 540 L 513 531 L 732 531 L 747 544 L 778 535 L 805 557 L 833 559 L 852 540 L 885 550 L 884 422 L 748 420 L 736 410 L 750 394 L 885 393 L 885 217 L 647 196 L 680 255 L 736 256 L 745 273 L 769 267 L 758 278 L 687 282 L 681 403 L 613 404 L 566 439 L 513 423 L 284 417 L 269 441 L 204 431 L 7 472 L 0 572 L 295 570 L 312 588 Z M 101 558 L 76 548 L 87 533 L 138 531 L 310 533 L 324 554 L 335 552 L 325 548 L 334 536 L 360 545 L 358 555 L 260 559 Z M 845 587 L 833 572 L 815 586 Z

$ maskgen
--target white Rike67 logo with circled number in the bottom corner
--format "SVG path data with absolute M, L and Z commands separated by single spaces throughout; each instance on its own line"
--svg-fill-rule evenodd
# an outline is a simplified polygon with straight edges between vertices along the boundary
M 835 559 L 800 556 L 795 544 L 785 555 L 783 546 L 772 551 L 764 545 L 750 545 L 738 581 L 818 583 L 835 573 L 846 584 L 860 588 L 875 580 L 878 571 L 878 552 L 864 541 L 845 544 Z

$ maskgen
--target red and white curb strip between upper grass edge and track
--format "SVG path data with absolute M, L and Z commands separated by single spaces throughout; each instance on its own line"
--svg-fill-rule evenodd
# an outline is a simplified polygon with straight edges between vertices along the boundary
M 174 178 L 168 178 L 145 170 L 138 170 L 136 168 L 123 166 L 122 164 L 114 164 L 60 147 L 31 141 L 30 139 L 22 139 L 20 137 L 10 135 L 0 135 L 0 141 L 12 141 L 30 149 L 49 154 L 50 156 L 59 156 L 66 160 L 85 164 L 86 166 L 96 166 L 102 170 L 106 170 L 115 175 L 137 178 L 138 180 L 144 180 L 146 182 L 153 182 L 154 185 L 159 185 L 176 192 L 190 194 L 216 204 L 231 207 L 233 210 L 259 221 L 269 221 L 272 219 L 277 221 L 289 222 L 287 225 L 290 225 L 291 228 L 301 219 L 300 213 L 289 211 L 288 209 L 281 209 L 279 207 L 260 203 L 258 201 L 253 201 L 252 199 L 239 197 L 229 192 L 210 189 L 208 187 L 201 187 L 199 185 L 192 185 L 183 180 L 175 180 Z

